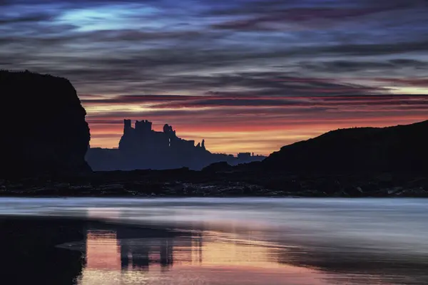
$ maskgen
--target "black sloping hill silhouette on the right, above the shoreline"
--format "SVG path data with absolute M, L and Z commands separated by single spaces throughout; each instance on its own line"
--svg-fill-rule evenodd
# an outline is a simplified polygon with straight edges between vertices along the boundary
M 288 172 L 428 170 L 428 120 L 388 128 L 333 130 L 273 152 L 260 166 Z

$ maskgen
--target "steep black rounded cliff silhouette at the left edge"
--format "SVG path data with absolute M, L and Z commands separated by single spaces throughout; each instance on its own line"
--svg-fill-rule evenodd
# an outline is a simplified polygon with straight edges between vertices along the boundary
M 0 176 L 86 172 L 86 111 L 65 78 L 0 71 Z

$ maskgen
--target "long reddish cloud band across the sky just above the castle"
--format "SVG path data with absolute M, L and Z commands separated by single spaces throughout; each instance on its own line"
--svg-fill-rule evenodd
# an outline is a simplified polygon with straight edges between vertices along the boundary
M 188 115 L 205 112 L 215 113 L 217 109 L 226 112 L 229 115 L 234 108 L 250 108 L 253 115 L 260 108 L 265 113 L 266 108 L 270 111 L 280 112 L 300 112 L 302 114 L 309 112 L 327 112 L 327 111 L 345 111 L 358 108 L 363 112 L 373 111 L 374 108 L 384 106 L 386 108 L 396 108 L 407 106 L 407 110 L 417 110 L 419 108 L 428 108 L 428 95 L 407 95 L 407 94 L 382 94 L 366 93 L 365 89 L 354 89 L 352 93 L 331 92 L 316 93 L 314 90 L 308 90 L 307 94 L 300 95 L 263 95 L 263 93 L 234 93 L 229 92 L 208 92 L 205 95 L 123 95 L 115 98 L 91 98 L 86 95 L 81 102 L 86 108 L 96 106 L 128 106 L 129 104 L 138 106 L 143 105 L 143 113 L 158 115 Z M 312 94 L 312 95 L 311 95 Z M 275 109 L 275 110 L 274 110 Z M 376 110 L 377 110 L 376 109 Z M 138 110 L 136 108 L 135 110 Z M 179 111 L 175 113 L 175 111 Z M 138 112 L 138 111 L 137 111 Z M 242 114 L 243 110 L 239 109 Z M 133 112 L 130 112 L 133 113 Z

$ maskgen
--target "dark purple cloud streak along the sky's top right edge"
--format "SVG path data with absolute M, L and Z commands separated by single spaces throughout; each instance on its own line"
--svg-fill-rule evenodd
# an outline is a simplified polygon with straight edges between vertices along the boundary
M 364 21 L 375 14 L 424 8 L 423 1 L 255 1 L 229 9 L 214 9 L 208 14 L 235 16 L 239 19 L 214 24 L 213 28 L 235 31 L 277 30 L 291 25 L 343 24 L 344 21 Z M 426 6 L 426 5 L 425 5 Z M 367 19 L 367 20 L 370 20 Z M 285 26 L 284 26 L 285 25 Z M 315 27 L 316 28 L 316 27 Z

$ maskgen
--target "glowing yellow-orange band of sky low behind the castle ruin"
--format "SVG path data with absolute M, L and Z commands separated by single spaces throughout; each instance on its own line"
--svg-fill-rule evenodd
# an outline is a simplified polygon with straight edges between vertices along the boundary
M 146 118 L 141 118 L 141 120 Z M 422 117 L 421 119 L 422 120 Z M 255 155 L 270 155 L 270 153 L 280 150 L 284 145 L 290 145 L 293 142 L 315 138 L 318 135 L 327 133 L 330 130 L 338 128 L 355 128 L 355 127 L 389 127 L 391 125 L 407 125 L 420 121 L 417 118 L 402 118 L 395 120 L 394 123 L 388 124 L 387 120 L 373 121 L 371 125 L 364 120 L 362 122 L 350 120 L 345 123 L 330 123 L 330 125 L 313 125 L 305 129 L 287 129 L 280 130 L 254 130 L 254 131 L 227 131 L 221 128 L 219 131 L 203 132 L 199 129 L 193 129 L 192 126 L 188 131 L 180 132 L 179 128 L 173 127 L 177 131 L 179 138 L 185 140 L 195 140 L 195 144 L 205 140 L 205 145 L 210 152 L 227 153 L 236 155 L 238 152 L 254 152 Z M 135 120 L 133 121 L 133 123 Z M 166 122 L 165 122 L 166 123 Z M 163 123 L 153 125 L 153 130 L 161 131 Z M 90 124 L 91 127 L 91 124 Z M 91 130 L 91 147 L 117 148 L 118 142 L 123 133 L 123 120 L 118 121 L 117 125 L 106 125 L 97 127 L 99 133 L 93 134 Z M 93 137 L 96 139 L 93 139 Z M 255 137 L 255 138 L 254 138 Z M 253 138 L 253 139 L 251 139 Z M 257 151 L 255 151 L 257 150 Z

